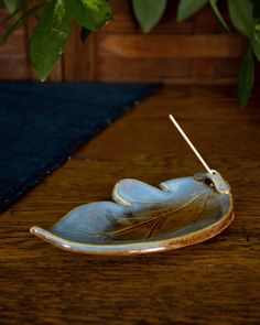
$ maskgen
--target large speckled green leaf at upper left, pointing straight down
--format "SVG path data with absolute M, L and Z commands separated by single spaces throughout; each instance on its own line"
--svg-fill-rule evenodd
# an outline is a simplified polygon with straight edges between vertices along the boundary
M 52 67 L 63 54 L 71 29 L 65 1 L 48 1 L 30 43 L 31 61 L 41 80 L 46 79 Z

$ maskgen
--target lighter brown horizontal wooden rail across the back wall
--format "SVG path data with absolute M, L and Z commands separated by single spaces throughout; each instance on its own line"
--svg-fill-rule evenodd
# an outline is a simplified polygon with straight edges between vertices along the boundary
M 98 55 L 129 58 L 238 57 L 245 39 L 230 35 L 121 35 L 101 34 Z

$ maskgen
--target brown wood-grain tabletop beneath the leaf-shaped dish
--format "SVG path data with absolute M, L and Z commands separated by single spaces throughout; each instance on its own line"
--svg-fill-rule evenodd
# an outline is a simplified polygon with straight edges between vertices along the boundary
M 234 87 L 164 87 L 0 217 L 0 324 L 260 324 L 260 107 Z M 123 177 L 152 185 L 203 171 L 172 112 L 230 182 L 236 219 L 223 234 L 140 257 L 62 251 L 33 237 Z

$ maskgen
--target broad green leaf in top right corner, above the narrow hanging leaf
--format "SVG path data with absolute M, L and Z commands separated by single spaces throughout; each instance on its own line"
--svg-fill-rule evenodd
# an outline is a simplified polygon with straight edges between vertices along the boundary
M 228 0 L 228 10 L 234 26 L 250 37 L 253 31 L 252 2 L 250 0 Z

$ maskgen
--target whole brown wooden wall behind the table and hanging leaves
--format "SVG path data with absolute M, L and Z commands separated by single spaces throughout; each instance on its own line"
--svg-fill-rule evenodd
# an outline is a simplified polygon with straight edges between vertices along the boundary
M 160 24 L 142 35 L 128 0 L 110 0 L 115 19 L 79 42 L 75 26 L 68 47 L 51 75 L 54 82 L 164 82 L 174 84 L 235 83 L 246 39 L 226 34 L 206 7 L 192 19 L 176 22 L 177 1 L 167 1 Z M 228 20 L 225 1 L 220 1 Z M 0 9 L 0 18 L 6 15 Z M 0 48 L 1 79 L 33 79 L 28 43 L 35 19 Z M 3 28 L 0 28 L 3 32 Z M 259 71 L 259 68 L 258 68 Z M 258 74 L 259 75 L 259 74 Z

